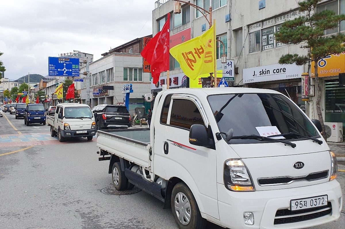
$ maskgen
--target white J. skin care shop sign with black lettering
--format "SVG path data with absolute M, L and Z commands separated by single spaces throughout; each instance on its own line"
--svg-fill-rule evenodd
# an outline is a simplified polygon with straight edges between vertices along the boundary
M 303 66 L 296 64 L 272 64 L 261 67 L 243 69 L 244 83 L 257 83 L 274 80 L 300 78 Z

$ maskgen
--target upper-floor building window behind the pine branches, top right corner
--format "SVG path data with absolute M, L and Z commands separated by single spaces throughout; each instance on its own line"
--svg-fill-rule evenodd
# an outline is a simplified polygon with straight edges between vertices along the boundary
M 327 2 L 325 4 L 321 4 L 316 7 L 317 13 L 323 10 L 332 10 L 335 12 L 336 15 L 339 15 L 339 13 L 345 14 L 345 0 L 335 0 L 335 1 Z M 345 21 L 341 21 L 340 26 L 338 26 L 337 28 L 326 29 L 324 33 L 325 35 L 338 33 L 339 29 L 340 31 L 345 30 Z

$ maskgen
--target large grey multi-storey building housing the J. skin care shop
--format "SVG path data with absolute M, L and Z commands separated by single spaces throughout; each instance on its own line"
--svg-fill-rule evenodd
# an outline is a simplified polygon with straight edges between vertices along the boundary
M 235 63 L 234 82 L 230 86 L 266 88 L 279 91 L 290 97 L 298 106 L 305 110 L 312 119 L 317 119 L 316 98 L 313 96 L 314 79 L 311 78 L 311 96 L 309 101 L 301 99 L 301 74 L 313 74 L 311 64 L 303 66 L 279 65 L 279 58 L 288 53 L 307 54 L 307 49 L 300 45 L 287 45 L 275 40 L 274 33 L 279 31 L 283 22 L 303 16 L 298 11 L 298 1 L 260 0 L 191 0 L 206 10 L 212 7 L 212 19 L 216 19 L 216 38 L 225 45 L 217 43 L 217 70 L 222 69 L 221 54 Z M 152 12 L 153 35 L 164 25 L 170 13 L 170 48 L 186 40 L 195 38 L 208 29 L 205 17 L 188 4 L 182 4 L 180 14 L 174 14 L 175 1 L 160 0 Z M 337 14 L 345 14 L 345 0 L 323 0 L 316 12 L 324 9 L 334 10 Z M 208 18 L 208 14 L 206 14 Z M 336 29 L 325 30 L 325 35 L 345 33 L 345 21 Z M 184 39 L 182 39 L 184 38 Z M 326 68 L 333 65 L 332 69 Z M 335 70 L 336 69 L 336 70 Z M 328 71 L 327 71 L 328 70 Z M 330 71 L 329 71 L 330 70 Z M 339 85 L 339 72 L 345 73 L 345 54 L 336 54 L 319 62 L 319 73 L 322 85 L 321 107 L 327 122 L 343 122 L 345 125 L 345 87 Z M 325 73 L 326 72 L 326 73 Z M 170 57 L 170 78 L 172 75 L 183 74 L 179 63 Z M 162 73 L 164 79 L 166 73 Z M 201 83 L 190 81 L 190 87 Z M 164 83 L 164 82 L 163 82 Z M 157 85 L 156 85 L 157 86 Z M 201 85 L 200 85 L 201 86 Z M 151 85 L 152 89 L 155 85 Z

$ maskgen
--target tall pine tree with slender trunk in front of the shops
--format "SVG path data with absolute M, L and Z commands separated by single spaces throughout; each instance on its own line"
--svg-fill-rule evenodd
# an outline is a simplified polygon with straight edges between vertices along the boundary
M 338 28 L 340 21 L 345 20 L 345 15 L 337 15 L 332 10 L 315 12 L 316 5 L 322 0 L 304 0 L 298 2 L 299 11 L 305 12 L 305 16 L 286 21 L 275 34 L 276 40 L 284 44 L 302 44 L 301 48 L 307 49 L 307 55 L 285 54 L 279 59 L 280 64 L 297 64 L 318 61 L 328 55 L 345 51 L 345 34 L 337 33 L 331 36 L 324 36 L 326 29 Z M 318 77 L 318 66 L 314 64 L 315 70 L 315 91 L 316 111 L 318 120 L 322 125 L 322 136 L 326 138 L 326 131 L 323 122 L 320 102 L 321 85 Z

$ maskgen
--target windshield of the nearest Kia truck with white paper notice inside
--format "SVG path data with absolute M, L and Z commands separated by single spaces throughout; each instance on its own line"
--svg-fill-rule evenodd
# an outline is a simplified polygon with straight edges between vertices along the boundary
M 233 136 L 295 133 L 319 137 L 311 121 L 297 106 L 280 94 L 209 95 L 208 102 L 221 132 L 233 129 Z M 282 138 L 282 137 L 281 137 Z M 285 139 L 303 138 L 293 134 Z M 255 139 L 231 139 L 230 143 L 257 143 Z

